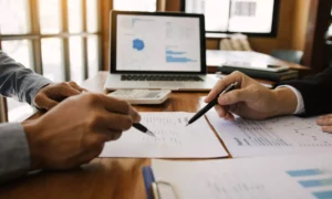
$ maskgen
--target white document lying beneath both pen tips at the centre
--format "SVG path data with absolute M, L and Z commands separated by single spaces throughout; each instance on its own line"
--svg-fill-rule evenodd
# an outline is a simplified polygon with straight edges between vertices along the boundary
M 101 157 L 210 158 L 227 157 L 206 118 L 186 126 L 193 113 L 142 113 L 141 124 L 156 137 L 131 128 L 105 144 Z

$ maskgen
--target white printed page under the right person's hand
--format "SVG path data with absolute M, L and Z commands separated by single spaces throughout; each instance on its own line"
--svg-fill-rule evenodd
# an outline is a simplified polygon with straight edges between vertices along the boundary
M 232 157 L 332 153 L 332 134 L 321 130 L 317 117 L 227 122 L 210 111 L 207 118 Z

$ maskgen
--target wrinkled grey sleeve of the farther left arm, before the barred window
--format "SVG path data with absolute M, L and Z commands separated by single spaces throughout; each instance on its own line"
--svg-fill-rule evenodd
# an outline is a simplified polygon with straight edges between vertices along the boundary
M 0 51 L 0 94 L 34 106 L 34 96 L 50 80 L 32 72 Z

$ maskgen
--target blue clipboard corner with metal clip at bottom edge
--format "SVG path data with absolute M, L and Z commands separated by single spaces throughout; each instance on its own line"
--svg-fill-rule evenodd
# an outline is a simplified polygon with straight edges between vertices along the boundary
M 173 185 L 155 180 L 151 167 L 143 167 L 142 172 L 147 199 L 179 199 Z

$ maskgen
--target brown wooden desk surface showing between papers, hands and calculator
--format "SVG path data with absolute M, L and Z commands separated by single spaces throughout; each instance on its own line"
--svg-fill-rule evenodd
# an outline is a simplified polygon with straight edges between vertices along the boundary
M 83 86 L 103 92 L 107 72 L 100 72 Z M 141 112 L 196 112 L 207 93 L 173 93 L 163 105 L 136 106 Z M 37 115 L 38 116 L 38 115 Z M 43 171 L 0 185 L 0 198 L 10 199 L 145 199 L 142 166 L 149 159 L 96 158 L 80 169 Z

